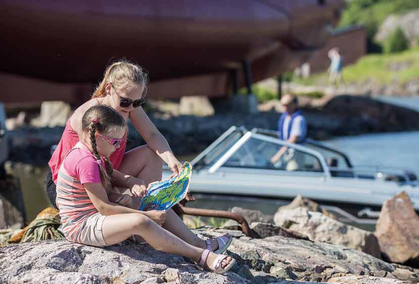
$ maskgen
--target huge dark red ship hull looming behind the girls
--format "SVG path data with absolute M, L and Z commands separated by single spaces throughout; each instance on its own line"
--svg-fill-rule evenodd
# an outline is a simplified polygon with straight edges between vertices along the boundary
M 109 62 L 126 57 L 149 70 L 153 96 L 185 94 L 172 87 L 168 91 L 164 84 L 170 82 L 188 94 L 200 89 L 195 94 L 223 96 L 230 87 L 228 72 L 240 70 L 243 60 L 250 62 L 257 81 L 300 64 L 324 44 L 326 28 L 336 22 L 343 4 L 321 3 L 4 0 L 0 71 L 91 85 Z M 208 80 L 214 85 L 202 91 L 197 81 Z M 38 99 L 57 98 L 37 94 Z

